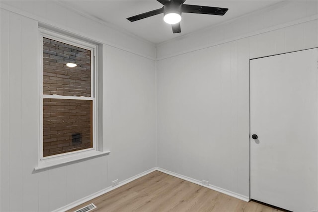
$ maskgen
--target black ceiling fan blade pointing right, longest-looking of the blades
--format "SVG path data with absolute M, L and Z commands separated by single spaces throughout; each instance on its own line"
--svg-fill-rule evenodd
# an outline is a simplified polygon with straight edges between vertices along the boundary
M 209 15 L 224 15 L 229 9 L 221 7 L 212 7 L 212 6 L 199 6 L 199 5 L 182 5 L 182 12 L 188 13 L 200 13 L 200 14 L 209 14 Z

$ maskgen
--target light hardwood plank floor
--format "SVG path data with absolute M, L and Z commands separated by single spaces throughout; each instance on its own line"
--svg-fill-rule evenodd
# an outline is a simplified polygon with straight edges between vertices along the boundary
M 220 192 L 154 171 L 90 203 L 92 212 L 280 212 L 256 202 L 246 203 Z

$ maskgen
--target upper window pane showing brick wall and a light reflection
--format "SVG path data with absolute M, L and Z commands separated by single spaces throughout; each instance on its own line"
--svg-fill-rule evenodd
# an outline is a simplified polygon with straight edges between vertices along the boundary
M 90 57 L 90 50 L 43 38 L 43 94 L 90 97 Z

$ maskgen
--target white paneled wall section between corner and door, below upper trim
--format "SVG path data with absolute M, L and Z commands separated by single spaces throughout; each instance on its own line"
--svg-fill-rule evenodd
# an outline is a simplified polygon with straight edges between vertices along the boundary
M 248 196 L 248 39 L 157 62 L 158 166 Z

